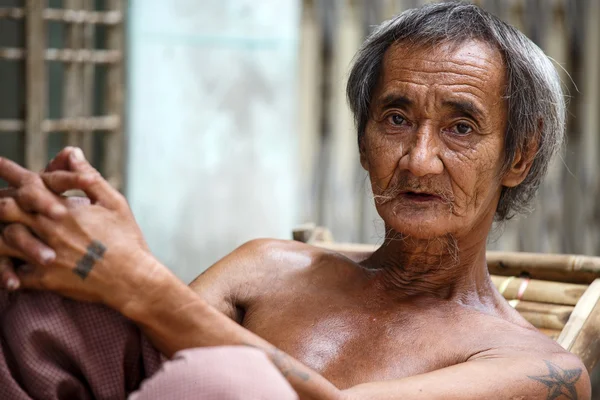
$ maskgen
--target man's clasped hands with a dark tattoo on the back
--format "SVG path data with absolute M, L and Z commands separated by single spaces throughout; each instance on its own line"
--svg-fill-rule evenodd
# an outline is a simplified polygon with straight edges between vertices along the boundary
M 39 174 L 0 158 L 0 179 L 10 185 L 0 191 L 0 287 L 50 290 L 119 309 L 143 290 L 143 277 L 166 272 L 125 198 L 80 149 L 67 147 Z M 61 196 L 73 189 L 89 200 Z

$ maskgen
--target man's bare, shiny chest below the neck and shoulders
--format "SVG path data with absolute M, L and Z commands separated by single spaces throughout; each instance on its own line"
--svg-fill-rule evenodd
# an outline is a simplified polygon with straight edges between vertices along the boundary
M 429 372 L 470 352 L 451 317 L 331 299 L 252 307 L 243 325 L 340 388 Z

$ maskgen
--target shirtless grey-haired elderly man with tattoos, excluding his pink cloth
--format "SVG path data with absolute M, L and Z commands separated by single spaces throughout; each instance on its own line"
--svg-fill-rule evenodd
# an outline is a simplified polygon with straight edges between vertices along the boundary
M 2 252 L 28 263 L 5 281 L 102 303 L 167 357 L 256 348 L 302 399 L 589 399 L 581 362 L 504 301 L 485 259 L 494 219 L 527 208 L 564 135 L 548 58 L 474 5 L 429 5 L 367 39 L 348 98 L 387 231 L 373 254 L 255 240 L 187 287 L 68 149 L 41 175 L 0 164 Z

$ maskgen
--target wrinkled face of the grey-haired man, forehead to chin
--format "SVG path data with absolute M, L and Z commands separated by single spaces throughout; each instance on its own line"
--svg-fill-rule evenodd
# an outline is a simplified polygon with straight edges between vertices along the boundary
M 388 49 L 361 143 L 388 228 L 487 235 L 503 183 L 504 87 L 500 53 L 479 41 Z

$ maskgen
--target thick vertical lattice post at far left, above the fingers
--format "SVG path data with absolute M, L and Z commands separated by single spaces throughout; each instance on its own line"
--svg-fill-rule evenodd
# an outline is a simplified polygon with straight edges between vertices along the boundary
M 25 61 L 27 109 L 25 120 L 25 166 L 40 171 L 47 162 L 48 135 L 42 132 L 46 117 L 46 24 L 43 12 L 45 0 L 26 0 L 25 32 L 27 59 Z

